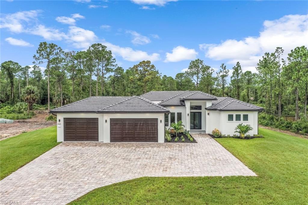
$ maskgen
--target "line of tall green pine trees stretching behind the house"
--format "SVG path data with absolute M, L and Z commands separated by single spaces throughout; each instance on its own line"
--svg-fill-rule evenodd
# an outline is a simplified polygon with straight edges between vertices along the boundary
M 281 47 L 265 53 L 256 65 L 257 73 L 243 72 L 240 62 L 232 68 L 223 63 L 215 70 L 201 59 L 175 78 L 162 75 L 150 61 L 124 70 L 106 46 L 95 43 L 86 51 L 65 52 L 54 43 L 41 42 L 34 54 L 34 66 L 6 61 L 0 70 L 0 102 L 22 101 L 22 90 L 35 86 L 37 103 L 59 107 L 90 96 L 131 96 L 151 90 L 200 90 L 228 96 L 262 107 L 269 114 L 307 116 L 308 50 L 296 47 L 283 59 Z M 42 74 L 40 65 L 46 65 Z

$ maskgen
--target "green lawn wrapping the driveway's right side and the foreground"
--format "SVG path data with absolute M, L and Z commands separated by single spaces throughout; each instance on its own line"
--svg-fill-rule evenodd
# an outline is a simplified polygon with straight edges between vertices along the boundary
M 258 177 L 144 177 L 98 188 L 71 204 L 308 204 L 308 140 L 221 138 Z

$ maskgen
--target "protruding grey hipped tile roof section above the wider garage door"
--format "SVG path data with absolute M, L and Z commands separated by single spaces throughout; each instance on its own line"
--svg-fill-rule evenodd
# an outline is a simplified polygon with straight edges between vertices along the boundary
M 98 113 L 169 113 L 170 111 L 157 105 L 156 103 L 139 97 L 132 96 L 121 102 L 105 107 L 98 111 Z

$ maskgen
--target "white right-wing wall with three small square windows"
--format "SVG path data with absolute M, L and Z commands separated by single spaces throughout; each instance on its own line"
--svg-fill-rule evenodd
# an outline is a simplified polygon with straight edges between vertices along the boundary
M 211 134 L 212 131 L 217 128 L 221 131 L 223 135 L 238 135 L 234 133 L 235 127 L 243 123 L 244 125 L 249 124 L 253 127 L 252 131 L 249 131 L 247 134 L 256 135 L 258 134 L 258 112 L 257 111 L 207 111 L 209 112 L 208 122 L 209 130 L 206 133 Z M 228 115 L 233 114 L 233 121 L 228 121 Z M 235 115 L 241 115 L 241 121 L 235 121 Z M 248 121 L 243 121 L 243 114 L 248 114 Z

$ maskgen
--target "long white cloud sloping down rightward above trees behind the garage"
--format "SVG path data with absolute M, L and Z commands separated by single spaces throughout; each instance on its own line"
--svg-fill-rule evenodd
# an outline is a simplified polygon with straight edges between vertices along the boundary
M 120 47 L 109 42 L 102 42 L 102 44 L 107 46 L 107 48 L 111 50 L 113 54 L 119 55 L 124 60 L 127 61 L 135 62 L 135 61 L 150 60 L 154 62 L 160 59 L 160 55 L 158 53 L 148 54 L 145 51 L 133 50 L 130 47 Z

